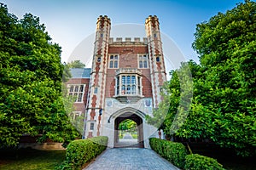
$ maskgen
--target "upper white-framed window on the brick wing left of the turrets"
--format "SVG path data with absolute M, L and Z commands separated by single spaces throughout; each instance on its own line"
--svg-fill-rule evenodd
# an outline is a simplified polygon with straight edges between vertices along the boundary
M 68 95 L 76 98 L 75 102 L 83 102 L 84 84 L 68 84 Z

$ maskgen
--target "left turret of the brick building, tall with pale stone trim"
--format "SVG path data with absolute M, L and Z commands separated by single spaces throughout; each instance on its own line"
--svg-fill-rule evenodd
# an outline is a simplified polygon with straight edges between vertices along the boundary
M 90 92 L 87 108 L 87 138 L 101 133 L 102 114 L 104 114 L 105 84 L 108 61 L 108 40 L 111 22 L 107 15 L 100 15 L 96 22 L 96 40 L 90 73 Z M 85 131 L 85 129 L 84 129 Z

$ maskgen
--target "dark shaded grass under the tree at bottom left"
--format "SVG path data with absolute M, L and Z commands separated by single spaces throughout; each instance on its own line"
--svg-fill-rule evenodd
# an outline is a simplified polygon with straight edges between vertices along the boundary
M 66 150 L 0 150 L 1 170 L 49 170 L 64 161 Z

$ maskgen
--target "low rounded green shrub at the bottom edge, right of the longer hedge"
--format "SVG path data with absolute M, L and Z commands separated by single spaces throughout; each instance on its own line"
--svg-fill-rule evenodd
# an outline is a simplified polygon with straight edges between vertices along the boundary
M 211 157 L 201 156 L 199 154 L 190 154 L 186 156 L 184 169 L 223 170 L 224 168 L 217 160 Z

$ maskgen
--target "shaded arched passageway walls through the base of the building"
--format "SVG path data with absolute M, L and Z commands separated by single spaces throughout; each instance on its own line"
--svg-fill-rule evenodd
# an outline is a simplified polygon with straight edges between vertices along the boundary
M 120 142 L 119 141 L 119 123 L 123 122 L 127 119 L 130 119 L 137 123 L 137 141 L 136 142 Z M 114 139 L 113 139 L 113 147 L 144 147 L 144 139 L 143 139 L 143 119 L 137 114 L 132 112 L 125 112 L 119 116 L 117 116 L 114 120 Z

